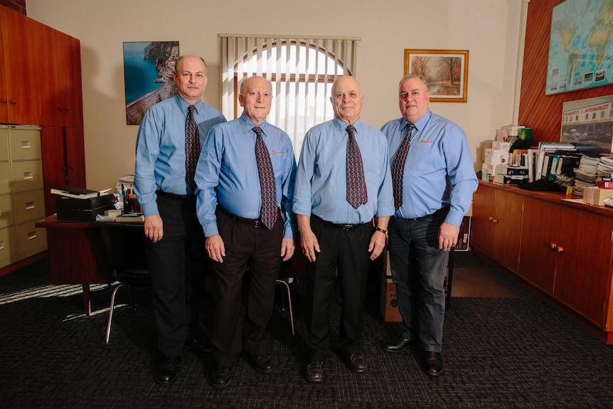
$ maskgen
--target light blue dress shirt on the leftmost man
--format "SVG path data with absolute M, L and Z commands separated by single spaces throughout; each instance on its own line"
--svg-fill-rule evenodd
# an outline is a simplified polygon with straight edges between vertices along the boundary
M 163 100 L 145 113 L 137 136 L 134 193 L 144 216 L 159 214 L 156 190 L 184 196 L 194 193 L 185 180 L 185 122 L 189 104 L 182 97 Z M 210 127 L 225 122 L 218 110 L 196 102 L 200 147 Z

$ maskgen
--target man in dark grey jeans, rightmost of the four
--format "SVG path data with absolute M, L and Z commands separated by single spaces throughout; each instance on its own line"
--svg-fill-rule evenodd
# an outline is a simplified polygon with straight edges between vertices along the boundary
M 439 376 L 447 252 L 457 243 L 477 179 L 466 134 L 430 112 L 423 78 L 405 75 L 398 102 L 403 117 L 381 131 L 388 138 L 394 184 L 388 247 L 403 334 L 383 349 L 397 353 L 421 342 L 424 371 Z

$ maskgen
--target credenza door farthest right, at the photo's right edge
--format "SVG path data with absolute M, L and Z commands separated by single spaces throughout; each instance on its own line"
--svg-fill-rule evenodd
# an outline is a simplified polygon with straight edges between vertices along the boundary
M 604 328 L 611 289 L 612 218 L 565 208 L 560 222 L 553 296 Z

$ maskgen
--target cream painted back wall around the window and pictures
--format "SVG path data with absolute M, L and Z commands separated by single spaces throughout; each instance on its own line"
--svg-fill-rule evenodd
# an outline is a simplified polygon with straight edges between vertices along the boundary
M 476 148 L 513 122 L 523 0 L 27 0 L 28 16 L 81 41 L 87 187 L 134 171 L 125 124 L 123 42 L 179 41 L 209 66 L 204 101 L 220 108 L 218 33 L 357 36 L 362 119 L 399 117 L 405 48 L 469 50 L 467 103 L 432 103 Z M 286 11 L 288 8 L 291 11 Z M 295 17 L 294 17 L 295 16 Z M 45 67 L 41 62 L 41 69 Z

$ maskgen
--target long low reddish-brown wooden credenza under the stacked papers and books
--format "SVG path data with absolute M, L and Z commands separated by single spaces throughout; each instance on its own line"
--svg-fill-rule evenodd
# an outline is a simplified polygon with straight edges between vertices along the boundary
M 613 208 L 566 198 L 479 181 L 471 246 L 613 344 Z

